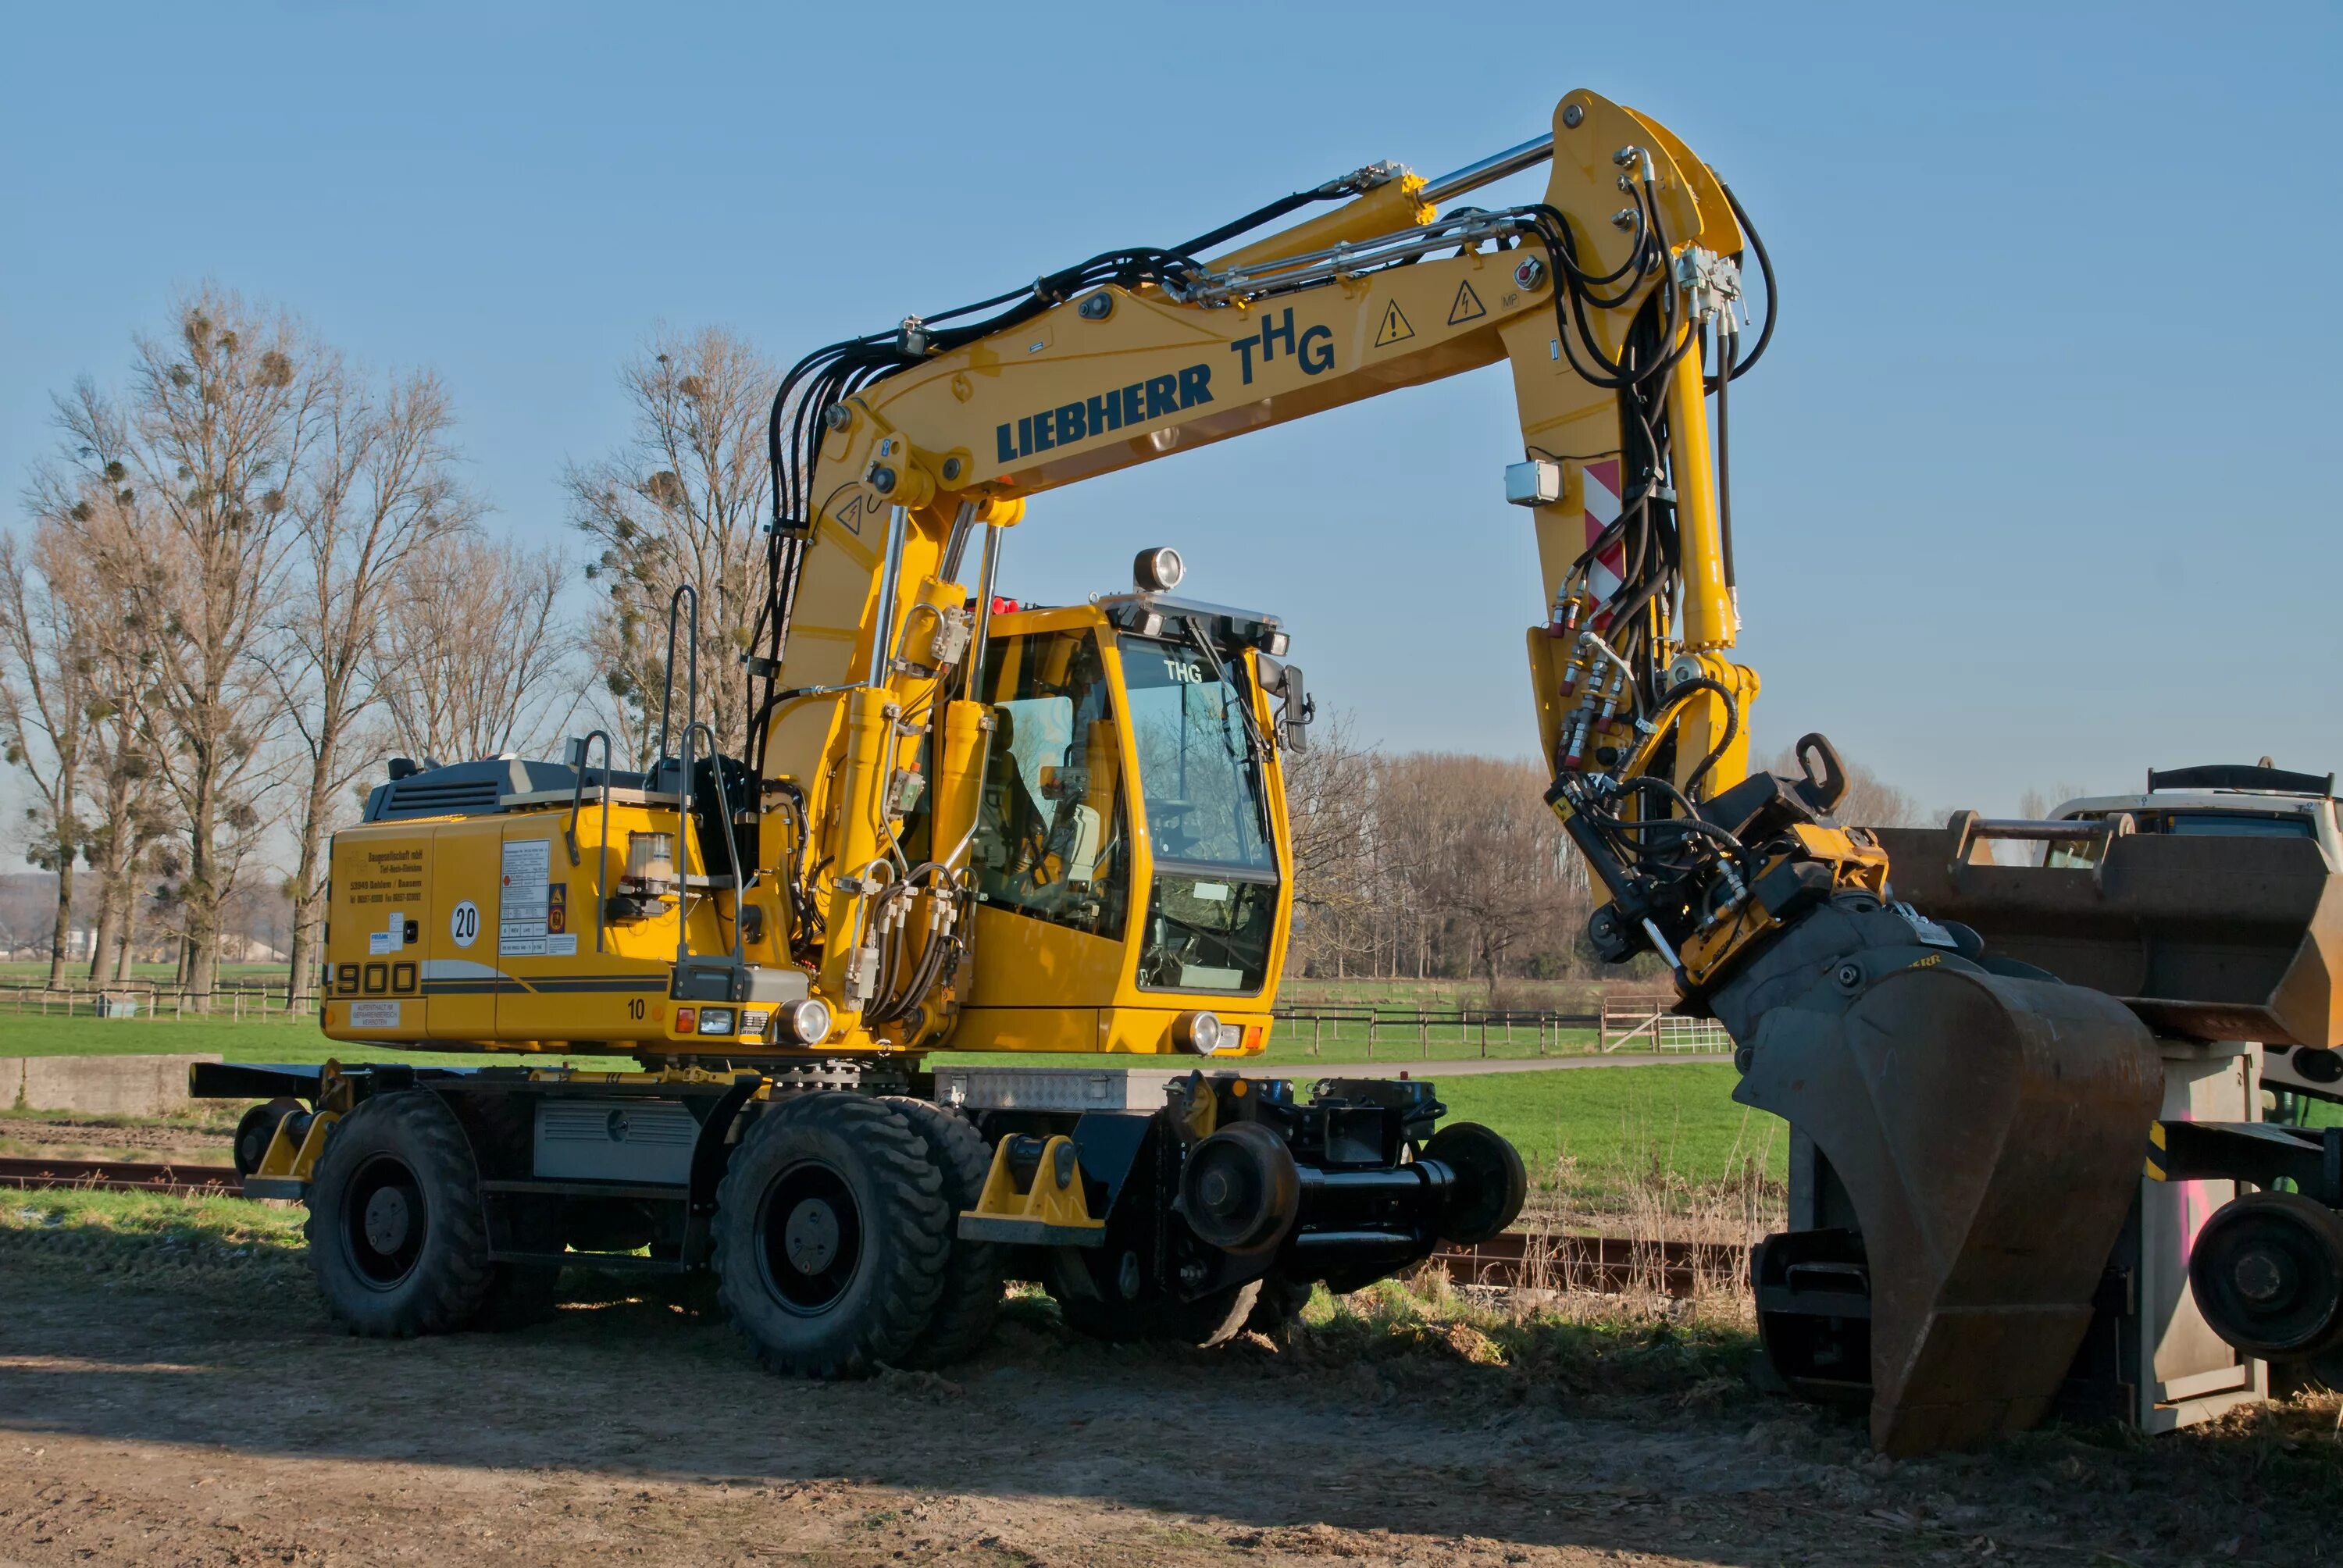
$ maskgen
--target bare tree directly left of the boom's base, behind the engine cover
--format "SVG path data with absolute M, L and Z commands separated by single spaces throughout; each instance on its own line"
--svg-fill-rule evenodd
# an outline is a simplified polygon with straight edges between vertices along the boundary
M 701 595 L 703 717 L 738 752 L 747 734 L 747 652 L 764 602 L 764 422 L 780 380 L 724 328 L 661 330 L 619 373 L 635 429 L 602 462 L 572 466 L 569 518 L 593 537 L 586 577 L 607 588 L 590 640 L 621 722 L 644 736 L 661 703 L 668 595 Z M 637 750 L 637 757 L 642 752 Z

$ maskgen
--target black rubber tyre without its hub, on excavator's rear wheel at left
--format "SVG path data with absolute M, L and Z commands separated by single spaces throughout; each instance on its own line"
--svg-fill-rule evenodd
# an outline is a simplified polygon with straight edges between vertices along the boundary
M 377 1155 L 408 1167 L 424 1205 L 424 1238 L 396 1284 L 375 1284 L 356 1266 L 340 1221 L 351 1179 Z M 471 1322 L 487 1298 L 487 1219 L 480 1174 L 455 1113 L 429 1090 L 377 1095 L 335 1123 L 309 1181 L 309 1273 L 326 1310 L 351 1334 L 408 1338 Z

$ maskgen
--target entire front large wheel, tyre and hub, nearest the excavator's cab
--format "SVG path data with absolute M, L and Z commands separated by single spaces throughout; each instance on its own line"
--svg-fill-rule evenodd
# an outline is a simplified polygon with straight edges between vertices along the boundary
M 771 1371 L 851 1378 L 907 1362 L 949 1256 L 940 1160 L 881 1099 L 806 1092 L 766 1111 L 717 1188 L 719 1294 Z

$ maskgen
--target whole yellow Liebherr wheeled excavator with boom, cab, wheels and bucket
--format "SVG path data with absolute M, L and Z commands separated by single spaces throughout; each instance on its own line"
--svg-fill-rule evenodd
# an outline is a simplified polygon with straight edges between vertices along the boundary
M 1537 202 L 1441 211 L 1539 164 Z M 333 846 L 323 1029 L 534 1059 L 199 1069 L 272 1099 L 248 1191 L 309 1200 L 361 1331 L 525 1317 L 562 1266 L 712 1268 L 806 1373 L 961 1355 L 1010 1273 L 1078 1327 L 1209 1343 L 1500 1230 L 1521 1163 L 1443 1127 L 1432 1085 L 1242 1071 L 1310 715 L 1279 621 L 1181 598 L 1169 551 L 1059 609 L 1003 600 L 998 565 L 1050 490 L 1504 361 L 1549 799 L 1607 891 L 1589 935 L 1657 954 L 1799 1137 L 1813 1214 L 1760 1259 L 1776 1362 L 1860 1390 L 1888 1448 L 2036 1420 L 2158 1052 L 2116 994 L 1903 902 L 1879 837 L 1832 818 L 1828 741 L 1799 778 L 1748 771 L 1727 408 L 1774 330 L 1769 288 L 1743 352 L 1748 258 L 1708 164 L 1572 91 L 1450 176 L 1364 166 L 804 359 L 738 755 L 677 588 L 642 771 L 607 736 L 394 762 Z M 940 1048 L 1087 1059 L 928 1069 Z

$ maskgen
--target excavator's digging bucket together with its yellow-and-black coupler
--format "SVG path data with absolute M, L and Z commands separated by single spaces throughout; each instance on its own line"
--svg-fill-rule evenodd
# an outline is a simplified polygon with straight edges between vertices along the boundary
M 1828 743 L 1799 755 L 1821 771 L 1755 773 L 1699 804 L 1706 827 L 1675 825 L 1635 867 L 1614 858 L 1591 938 L 1671 959 L 1682 1010 L 1736 1043 L 1734 1099 L 1788 1120 L 1835 1179 L 1823 1221 L 1755 1256 L 1776 1369 L 1867 1395 L 1886 1453 L 2024 1430 L 2059 1392 L 2123 1230 L 2160 1104 L 2156 1041 L 2113 996 L 1898 900 L 1877 837 L 1830 816 L 1844 771 Z M 1589 799 L 1567 778 L 1556 792 Z M 1708 844 L 1729 851 L 1703 863 Z M 1671 870 L 1687 863 L 1699 874 Z M 1825 1366 L 1813 1331 L 1851 1315 L 1867 1366 Z

